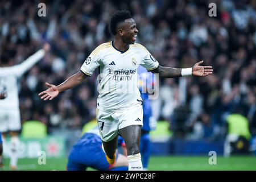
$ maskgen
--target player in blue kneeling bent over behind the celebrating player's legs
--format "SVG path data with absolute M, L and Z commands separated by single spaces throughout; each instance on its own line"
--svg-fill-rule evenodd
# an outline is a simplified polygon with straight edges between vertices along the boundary
M 125 149 L 125 143 L 121 137 L 118 138 L 118 144 Z M 102 142 L 98 127 L 86 132 L 73 145 L 68 157 L 68 171 L 84 171 L 87 167 L 91 167 L 100 171 L 127 171 L 127 156 L 116 152 L 116 160 L 114 164 L 109 164 L 106 160 L 106 154 L 102 150 Z

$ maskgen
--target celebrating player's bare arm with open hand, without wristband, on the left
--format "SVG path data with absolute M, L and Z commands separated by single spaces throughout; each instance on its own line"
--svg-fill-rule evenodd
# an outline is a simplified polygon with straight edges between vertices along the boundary
M 64 90 L 67 90 L 67 89 L 71 89 L 77 85 L 80 85 L 86 77 L 87 76 L 85 76 L 85 74 L 80 71 L 72 75 L 63 83 L 57 86 L 48 84 L 46 82 L 46 86 L 48 87 L 48 89 L 39 93 L 38 96 L 40 96 L 40 98 L 43 99 L 44 101 L 53 100 L 53 98 L 55 98 L 60 92 L 63 92 Z

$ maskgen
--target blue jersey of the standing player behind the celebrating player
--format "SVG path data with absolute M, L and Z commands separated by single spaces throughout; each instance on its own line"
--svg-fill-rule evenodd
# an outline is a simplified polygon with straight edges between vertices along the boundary
M 151 102 L 148 99 L 147 89 L 154 87 L 154 75 L 145 68 L 139 66 L 138 78 L 139 90 L 143 100 L 143 127 L 142 130 L 150 131 L 150 118 L 152 117 Z

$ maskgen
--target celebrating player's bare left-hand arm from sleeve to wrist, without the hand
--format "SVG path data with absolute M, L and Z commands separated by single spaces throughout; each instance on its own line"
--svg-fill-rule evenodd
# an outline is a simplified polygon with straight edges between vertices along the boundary
M 57 89 L 59 92 L 71 89 L 77 85 L 80 85 L 85 78 L 86 76 L 82 72 L 77 72 L 75 75 L 72 75 L 60 85 L 57 85 Z

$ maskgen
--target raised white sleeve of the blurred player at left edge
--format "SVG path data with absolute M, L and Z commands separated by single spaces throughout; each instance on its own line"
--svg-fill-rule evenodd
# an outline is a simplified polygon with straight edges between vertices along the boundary
M 15 65 L 12 67 L 12 71 L 18 77 L 22 76 L 24 72 L 28 71 L 34 64 L 36 64 L 40 59 L 44 57 L 46 51 L 44 49 L 40 49 L 38 52 L 34 53 L 28 57 L 28 59 L 24 60 L 22 63 Z

